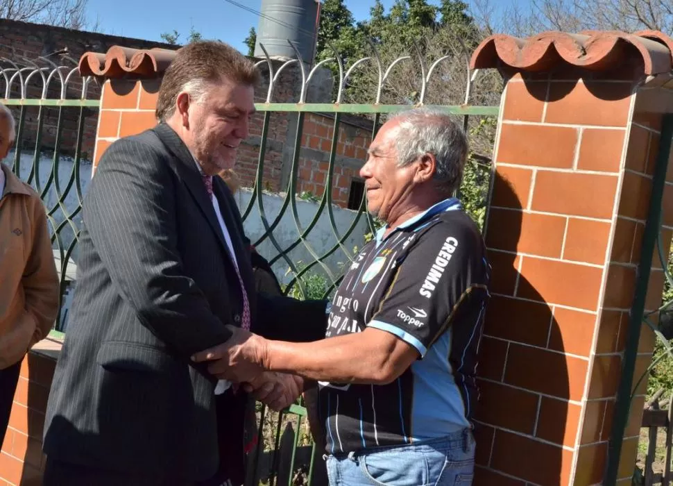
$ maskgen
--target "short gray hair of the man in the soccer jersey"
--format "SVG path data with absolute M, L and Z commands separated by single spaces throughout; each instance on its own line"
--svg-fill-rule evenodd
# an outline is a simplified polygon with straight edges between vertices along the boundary
M 400 167 L 409 165 L 426 153 L 436 159 L 434 181 L 444 194 L 453 194 L 463 178 L 468 140 L 463 129 L 447 113 L 433 108 L 416 108 L 398 113 L 389 121 L 398 121 L 396 141 Z

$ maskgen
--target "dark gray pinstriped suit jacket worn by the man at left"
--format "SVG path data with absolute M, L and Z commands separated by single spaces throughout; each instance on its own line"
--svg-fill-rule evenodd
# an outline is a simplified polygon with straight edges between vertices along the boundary
M 213 182 L 253 330 L 293 341 L 324 337 L 323 301 L 255 295 L 235 201 L 220 178 Z M 210 478 L 226 460 L 218 452 L 216 414 L 232 422 L 225 433 L 238 445 L 242 409 L 217 405 L 214 378 L 189 356 L 230 337 L 225 324 L 240 322 L 241 290 L 194 159 L 169 126 L 105 151 L 83 223 L 44 451 L 176 483 Z

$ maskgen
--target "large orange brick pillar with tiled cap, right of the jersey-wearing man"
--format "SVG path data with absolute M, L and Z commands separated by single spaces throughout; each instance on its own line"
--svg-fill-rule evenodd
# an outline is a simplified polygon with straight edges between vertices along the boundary
M 660 79 L 671 53 L 622 33 L 499 35 L 482 42 L 472 65 L 500 67 L 507 79 L 486 223 L 493 300 L 479 364 L 475 485 L 599 484 L 661 114 L 673 111 Z M 672 197 L 667 185 L 664 199 Z M 661 302 L 657 267 L 649 309 Z M 636 377 L 653 346 L 644 331 Z M 645 383 L 631 407 L 624 484 L 644 393 Z

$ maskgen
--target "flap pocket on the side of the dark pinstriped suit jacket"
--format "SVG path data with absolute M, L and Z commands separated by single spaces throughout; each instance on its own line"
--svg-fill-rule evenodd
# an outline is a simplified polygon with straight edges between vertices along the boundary
M 96 362 L 107 370 L 162 372 L 177 364 L 169 353 L 161 349 L 125 341 L 103 342 Z

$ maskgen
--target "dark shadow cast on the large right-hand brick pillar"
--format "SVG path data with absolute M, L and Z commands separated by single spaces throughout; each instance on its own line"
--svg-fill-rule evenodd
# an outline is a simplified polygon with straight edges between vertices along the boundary
M 582 391 L 577 397 L 570 389 L 559 324 L 550 305 L 518 273 L 520 257 L 491 251 L 517 248 L 523 217 L 512 185 L 497 171 L 494 177 L 491 204 L 508 208 L 511 217 L 503 228 L 492 214 L 486 232 L 493 296 L 479 351 L 474 484 L 568 485 L 572 452 L 562 445 L 574 446 L 577 433 L 566 424 L 568 400 L 580 400 Z

